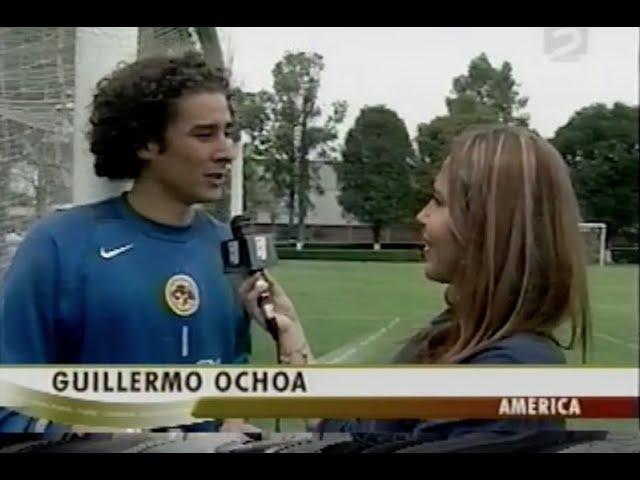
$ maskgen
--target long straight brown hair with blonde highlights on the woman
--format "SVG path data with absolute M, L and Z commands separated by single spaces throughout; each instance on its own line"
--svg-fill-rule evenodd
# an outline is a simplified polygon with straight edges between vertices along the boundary
M 580 214 L 568 168 L 538 135 L 484 126 L 455 139 L 443 165 L 462 258 L 451 279 L 452 321 L 418 333 L 414 360 L 455 363 L 518 332 L 581 340 L 590 315 Z M 556 343 L 559 343 L 555 340 Z

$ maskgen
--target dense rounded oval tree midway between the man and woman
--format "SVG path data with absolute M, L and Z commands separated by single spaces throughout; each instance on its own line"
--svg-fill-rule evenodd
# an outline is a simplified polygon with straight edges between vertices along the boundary
M 380 232 L 411 213 L 410 163 L 414 152 L 404 121 L 385 106 L 365 107 L 347 133 L 337 167 L 344 210 Z

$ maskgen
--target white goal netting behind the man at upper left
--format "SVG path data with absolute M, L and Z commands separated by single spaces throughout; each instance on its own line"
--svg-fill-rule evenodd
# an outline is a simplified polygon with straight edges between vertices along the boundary
M 28 228 L 72 201 L 76 30 L 0 28 L 0 287 Z M 138 29 L 138 57 L 194 48 L 192 27 Z

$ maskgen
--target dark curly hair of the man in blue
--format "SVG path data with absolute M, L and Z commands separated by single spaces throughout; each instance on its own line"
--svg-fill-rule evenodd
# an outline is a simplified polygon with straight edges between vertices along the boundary
M 96 175 L 137 178 L 143 167 L 137 151 L 149 142 L 166 148 L 165 132 L 178 100 L 200 92 L 223 93 L 231 109 L 227 75 L 212 71 L 197 52 L 138 60 L 100 80 L 88 132 Z

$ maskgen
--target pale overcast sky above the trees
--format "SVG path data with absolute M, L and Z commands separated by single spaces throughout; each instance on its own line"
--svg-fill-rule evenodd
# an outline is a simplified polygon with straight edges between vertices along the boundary
M 494 66 L 511 62 L 529 97 L 530 124 L 547 137 L 591 103 L 638 103 L 637 28 L 569 29 L 552 38 L 544 27 L 223 27 L 221 39 L 246 90 L 271 88 L 271 69 L 287 50 L 322 54 L 320 101 L 348 102 L 343 130 L 363 106 L 385 104 L 415 136 L 418 123 L 446 113 L 452 79 L 481 52 Z

